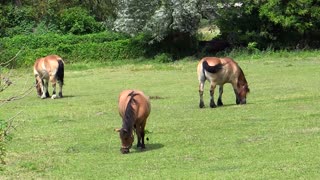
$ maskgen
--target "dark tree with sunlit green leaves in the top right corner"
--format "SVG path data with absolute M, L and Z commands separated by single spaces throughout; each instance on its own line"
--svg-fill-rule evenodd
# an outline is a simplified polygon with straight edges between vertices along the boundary
M 213 2 L 212 2 L 213 3 Z M 316 0 L 215 1 L 216 23 L 222 37 L 234 46 L 257 42 L 296 49 L 320 45 L 320 4 Z

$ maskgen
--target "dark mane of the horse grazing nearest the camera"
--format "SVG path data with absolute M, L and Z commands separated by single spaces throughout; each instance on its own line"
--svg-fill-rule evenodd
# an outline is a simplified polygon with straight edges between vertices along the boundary
M 135 111 L 133 109 L 132 104 L 137 103 L 136 100 L 134 99 L 134 96 L 136 96 L 136 95 L 138 95 L 138 94 L 135 94 L 134 91 L 132 91 L 130 94 L 128 94 L 128 96 L 130 96 L 130 99 L 128 101 L 126 111 L 125 111 L 124 117 L 123 117 L 123 128 L 127 129 L 128 132 L 131 132 L 132 127 L 133 127 L 134 118 L 135 118 Z

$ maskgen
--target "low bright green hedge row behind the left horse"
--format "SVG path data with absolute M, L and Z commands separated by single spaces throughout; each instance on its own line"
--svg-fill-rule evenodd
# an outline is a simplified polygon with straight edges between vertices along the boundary
M 77 35 L 31 35 L 0 39 L 0 63 L 14 57 L 21 49 L 14 67 L 30 66 L 35 59 L 58 54 L 69 63 L 105 62 L 137 58 L 145 53 L 141 37 L 130 38 L 122 34 L 103 32 Z

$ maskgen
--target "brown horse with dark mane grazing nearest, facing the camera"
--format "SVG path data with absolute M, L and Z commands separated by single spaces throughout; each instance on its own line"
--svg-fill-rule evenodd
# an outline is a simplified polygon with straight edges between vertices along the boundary
M 139 90 L 124 90 L 119 95 L 118 108 L 122 128 L 115 130 L 120 133 L 121 153 L 129 153 L 134 141 L 134 130 L 138 136 L 137 147 L 144 149 L 144 128 L 151 110 L 149 98 Z

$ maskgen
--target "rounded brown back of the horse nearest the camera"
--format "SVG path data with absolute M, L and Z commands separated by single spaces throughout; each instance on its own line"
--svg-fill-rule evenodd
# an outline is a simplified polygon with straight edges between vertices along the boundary
M 133 99 L 135 103 L 132 104 L 135 110 L 136 119 L 146 119 L 150 114 L 149 98 L 140 90 L 124 90 L 119 95 L 119 114 L 124 117 L 128 102 L 130 101 L 130 93 L 133 92 Z

